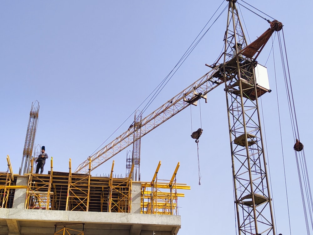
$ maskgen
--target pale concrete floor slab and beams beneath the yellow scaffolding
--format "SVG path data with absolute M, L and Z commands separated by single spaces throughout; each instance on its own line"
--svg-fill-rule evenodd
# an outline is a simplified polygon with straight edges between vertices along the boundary
M 181 217 L 172 215 L 24 210 L 0 208 L 0 235 L 54 234 L 66 226 L 85 235 L 176 235 Z M 74 234 L 74 232 L 73 232 Z

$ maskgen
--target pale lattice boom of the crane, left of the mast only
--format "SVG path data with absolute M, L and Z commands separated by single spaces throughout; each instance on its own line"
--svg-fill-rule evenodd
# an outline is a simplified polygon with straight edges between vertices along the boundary
M 175 114 L 182 111 L 190 104 L 196 103 L 200 97 L 205 97 L 209 91 L 212 91 L 214 88 L 222 84 L 223 81 L 217 81 L 216 77 L 214 77 L 218 74 L 218 71 L 219 66 L 215 66 L 212 70 L 200 77 L 186 89 L 143 118 L 140 137 L 143 137 L 151 130 L 167 121 L 169 118 L 172 118 Z M 100 166 L 112 158 L 115 154 L 121 152 L 133 143 L 134 128 L 131 128 L 119 137 L 115 138 L 115 140 L 107 144 L 104 148 L 88 157 L 87 160 L 76 168 L 75 173 L 87 173 L 89 159 L 91 159 L 91 170 L 94 170 L 96 167 Z

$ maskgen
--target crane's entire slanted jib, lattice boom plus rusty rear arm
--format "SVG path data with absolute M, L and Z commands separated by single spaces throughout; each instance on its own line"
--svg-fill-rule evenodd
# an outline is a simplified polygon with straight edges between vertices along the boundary
M 270 24 L 271 28 L 267 29 L 254 42 L 240 50 L 239 53 L 252 60 L 255 60 L 273 32 L 279 31 L 282 28 L 282 24 L 278 21 L 270 22 Z M 201 97 L 206 99 L 206 94 L 208 92 L 212 91 L 214 88 L 228 80 L 228 74 L 232 74 L 233 70 L 231 68 L 235 64 L 237 64 L 236 56 L 225 63 L 215 63 L 214 65 L 209 66 L 212 68 L 212 70 L 200 77 L 197 81 L 192 83 L 176 96 L 169 99 L 155 111 L 151 112 L 146 118 L 142 119 L 140 137 L 146 135 L 151 130 L 158 127 L 190 104 L 197 105 L 196 102 Z M 227 69 L 225 69 L 226 67 Z M 126 132 L 115 138 L 104 148 L 89 156 L 76 168 L 75 173 L 87 173 L 89 170 L 88 168 L 90 160 L 91 170 L 94 170 L 133 143 L 134 128 L 129 128 Z

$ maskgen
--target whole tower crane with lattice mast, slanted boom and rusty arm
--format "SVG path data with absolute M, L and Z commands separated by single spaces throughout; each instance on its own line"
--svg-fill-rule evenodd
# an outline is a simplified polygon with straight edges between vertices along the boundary
M 258 97 L 270 90 L 259 81 L 257 70 L 262 66 L 256 59 L 271 35 L 282 29 L 282 24 L 277 20 L 269 21 L 269 29 L 248 44 L 235 4 L 237 0 L 226 1 L 224 52 L 216 63 L 208 65 L 211 70 L 142 118 L 139 135 L 134 133 L 136 128 L 129 128 L 89 156 L 75 173 L 87 173 L 90 161 L 91 170 L 94 170 L 189 105 L 197 105 L 200 98 L 207 102 L 208 92 L 224 84 L 239 235 L 275 235 L 258 105 Z

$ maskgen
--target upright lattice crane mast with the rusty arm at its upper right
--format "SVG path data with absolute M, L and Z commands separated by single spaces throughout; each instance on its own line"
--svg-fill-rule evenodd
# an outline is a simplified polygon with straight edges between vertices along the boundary
M 282 24 L 270 22 L 271 28 L 247 46 L 235 2 L 229 0 L 222 70 L 239 235 L 275 235 L 257 99 L 268 90 L 257 84 L 254 67 L 260 50 Z

